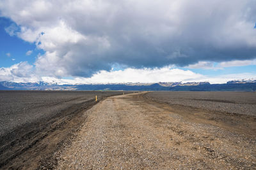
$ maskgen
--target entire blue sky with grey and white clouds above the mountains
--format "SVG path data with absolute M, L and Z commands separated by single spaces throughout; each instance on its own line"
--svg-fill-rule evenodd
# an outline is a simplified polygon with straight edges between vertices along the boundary
M 0 81 L 256 78 L 255 0 L 0 1 Z

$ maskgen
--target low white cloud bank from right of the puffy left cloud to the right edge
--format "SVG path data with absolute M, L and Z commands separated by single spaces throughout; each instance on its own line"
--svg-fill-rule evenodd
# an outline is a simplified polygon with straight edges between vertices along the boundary
M 204 82 L 208 81 L 212 84 L 227 83 L 231 80 L 242 80 L 256 78 L 253 73 L 240 74 L 222 74 L 219 76 L 205 76 L 197 74 L 193 71 L 184 71 L 172 67 L 162 67 L 159 69 L 124 69 L 123 71 L 99 71 L 93 74 L 91 78 L 77 77 L 74 80 L 58 79 L 53 77 L 42 77 L 43 81 L 56 82 L 60 84 L 76 84 L 76 83 L 157 83 L 157 82 Z

